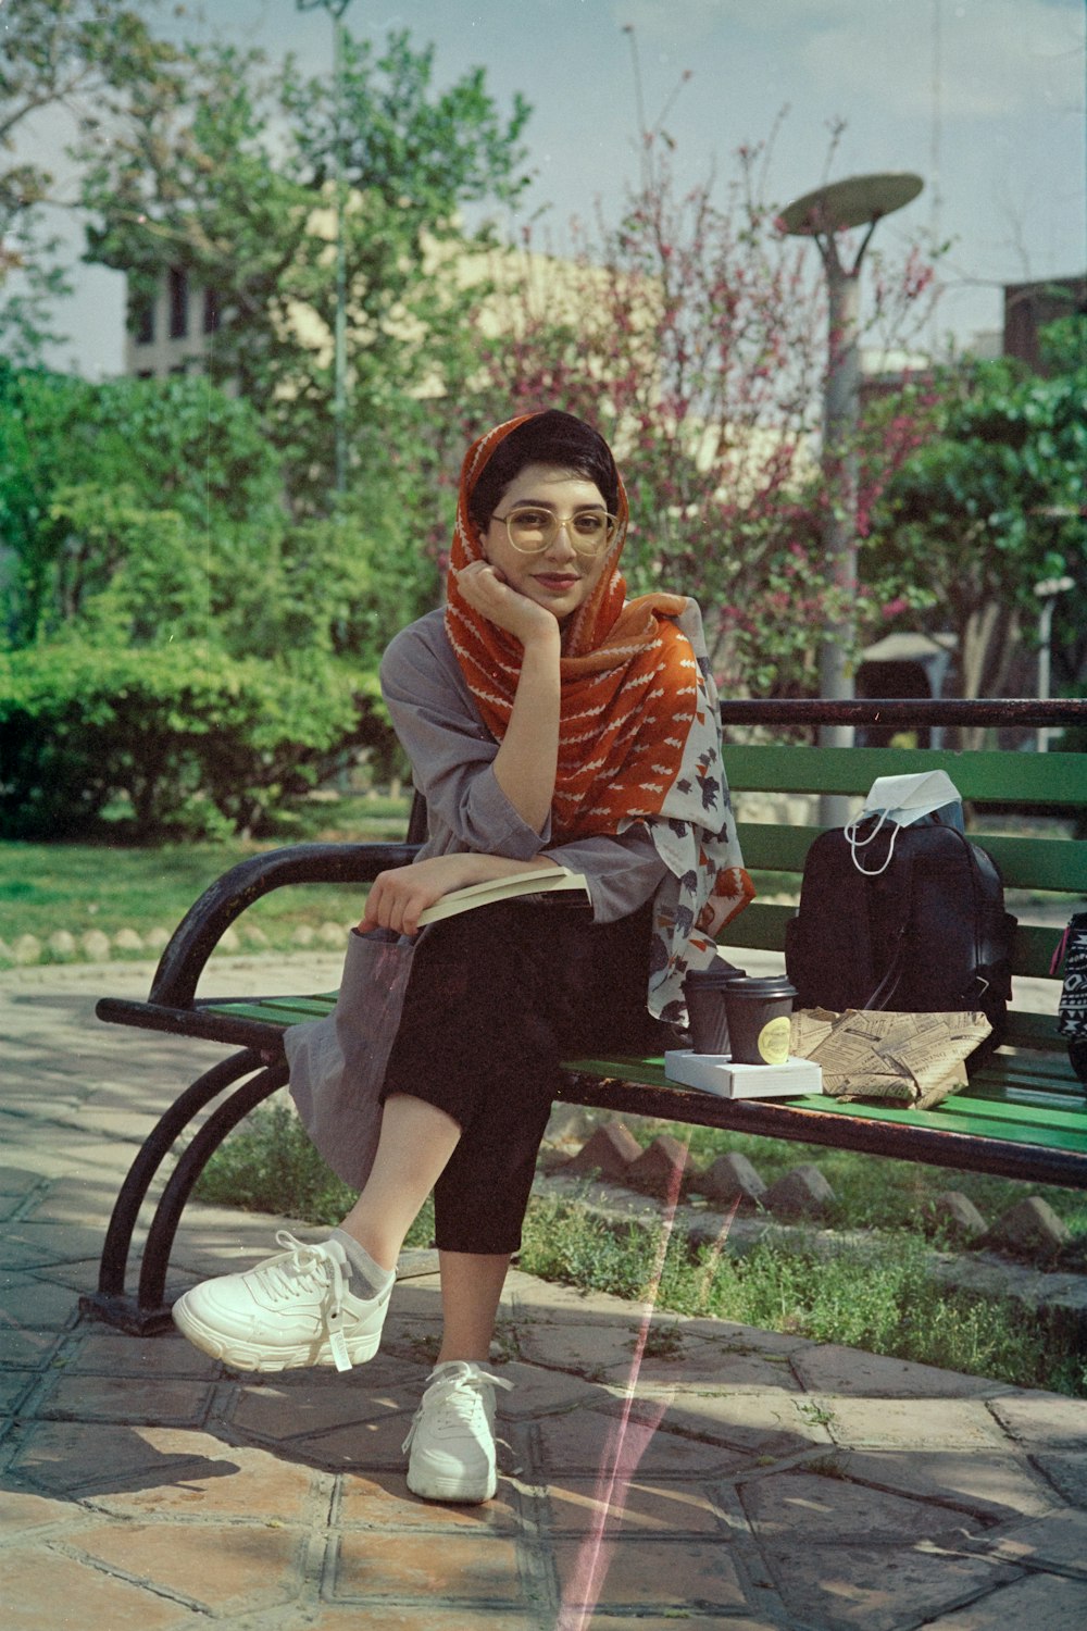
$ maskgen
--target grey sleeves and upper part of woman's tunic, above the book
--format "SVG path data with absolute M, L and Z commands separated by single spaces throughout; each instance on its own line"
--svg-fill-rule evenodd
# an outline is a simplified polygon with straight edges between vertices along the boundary
M 637 912 L 657 891 L 667 868 L 636 824 L 621 837 L 600 835 L 551 843 L 521 820 L 494 773 L 499 744 L 487 731 L 445 633 L 445 613 L 429 612 L 391 641 L 381 659 L 381 692 L 414 781 L 427 801 L 429 837 L 422 856 L 535 856 L 583 873 L 593 918 L 608 923 Z

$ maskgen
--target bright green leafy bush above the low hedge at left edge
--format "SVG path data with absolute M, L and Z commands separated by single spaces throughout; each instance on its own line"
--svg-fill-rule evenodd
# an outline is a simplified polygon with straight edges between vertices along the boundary
M 282 520 L 279 460 L 256 409 L 204 377 L 90 383 L 0 360 L 10 646 L 57 638 L 117 572 L 137 623 L 140 587 L 156 631 L 178 615 L 207 623 L 209 553 L 238 533 L 274 535 Z

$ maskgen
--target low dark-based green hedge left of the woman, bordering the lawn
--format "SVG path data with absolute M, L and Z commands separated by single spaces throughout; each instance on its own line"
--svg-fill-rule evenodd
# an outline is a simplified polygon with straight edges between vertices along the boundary
M 295 672 L 199 641 L 0 652 L 0 837 L 85 832 L 117 794 L 140 842 L 259 830 L 389 727 L 376 677 Z

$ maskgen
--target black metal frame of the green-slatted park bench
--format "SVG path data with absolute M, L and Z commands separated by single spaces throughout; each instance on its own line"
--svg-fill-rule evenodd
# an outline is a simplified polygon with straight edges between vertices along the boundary
M 1027 726 L 1033 729 L 1038 726 L 1087 724 L 1087 701 L 738 701 L 722 706 L 722 723 L 725 731 L 750 724 L 776 727 L 878 724 L 901 731 L 934 724 Z M 751 754 L 758 752 L 763 750 L 727 747 L 727 768 L 730 757 L 753 762 Z M 786 755 L 784 760 L 782 755 Z M 795 755 L 803 757 L 797 758 Z M 937 757 L 919 749 L 906 750 L 908 757 L 903 758 L 901 750 L 888 754 L 856 747 L 816 749 L 815 755 L 823 755 L 823 758 L 812 757 L 812 749 L 803 744 L 792 750 L 771 749 L 768 757 L 774 763 L 803 765 L 807 771 L 797 775 L 790 768 L 782 775 L 771 770 L 763 778 L 764 786 L 771 789 L 781 785 L 784 791 L 792 791 L 790 783 L 797 783 L 808 789 L 816 788 L 830 793 L 865 791 L 867 780 L 864 778 L 869 776 L 869 770 L 885 775 L 890 773 L 885 767 L 891 763 L 904 768 L 922 762 L 931 763 Z M 947 755 L 939 757 L 944 763 L 948 762 Z M 1030 765 L 1033 757 L 1010 752 L 1001 755 L 1002 760 L 1007 760 L 1009 768 L 1017 767 L 1020 771 Z M 1036 757 L 1048 758 L 1048 755 Z M 958 755 L 955 762 L 962 768 L 968 758 L 970 755 Z M 1071 763 L 1074 804 L 1087 811 L 1087 755 L 1082 755 L 1082 760 L 1054 755 L 1051 767 L 1054 770 L 1059 768 L 1056 760 L 1064 762 L 1066 770 Z M 816 767 L 823 770 L 828 765 L 831 767 L 830 776 L 823 773 L 812 776 L 812 770 Z M 857 783 L 860 771 L 864 785 Z M 952 775 L 955 775 L 953 768 Z M 1051 776 L 1048 780 L 1053 781 Z M 730 783 L 733 791 L 746 786 L 743 778 L 732 770 Z M 1064 786 L 1071 785 L 1066 773 Z M 1023 802 L 1030 804 L 1030 796 L 1025 796 Z M 103 1248 L 98 1290 L 81 1300 L 88 1313 L 108 1319 L 121 1329 L 140 1334 L 163 1329 L 168 1324 L 166 1274 L 169 1254 L 194 1184 L 227 1134 L 287 1081 L 282 1044 L 285 1028 L 298 1019 L 326 1013 L 331 1006 L 329 997 L 251 998 L 249 1001 L 197 998 L 200 975 L 223 931 L 254 900 L 272 889 L 310 882 L 359 886 L 372 881 L 389 866 L 407 864 L 424 837 L 424 820 L 425 812 L 417 804 L 404 843 L 293 845 L 243 861 L 212 884 L 181 922 L 163 953 L 145 1003 L 119 998 L 99 1001 L 98 1016 L 104 1021 L 202 1037 L 230 1044 L 240 1052 L 200 1075 L 165 1112 L 143 1142 L 117 1196 Z M 807 843 L 816 830 L 759 830 L 742 825 L 745 858 L 755 868 L 776 868 L 779 864 L 777 851 L 781 851 L 781 869 L 799 871 Z M 988 840 L 983 838 L 983 842 L 989 846 Z M 755 845 L 758 855 L 748 855 L 748 843 Z M 1030 843 L 1033 840 L 1023 840 L 1020 848 Z M 1020 851 L 1009 850 L 1009 853 L 1019 856 Z M 1053 843 L 1046 845 L 1041 874 L 1045 887 L 1054 887 L 1069 895 L 1076 892 L 1087 895 L 1087 842 L 1071 842 L 1056 848 Z M 730 930 L 725 943 L 730 948 L 781 949 L 784 922 L 789 915 L 789 907 L 761 907 L 756 902 L 737 920 L 735 933 Z M 1015 972 L 1048 972 L 1043 969 L 1045 948 L 1056 943 L 1058 933 L 1056 930 L 1053 933 L 1022 930 L 1017 935 Z M 275 1018 L 269 1019 L 269 1013 Z M 986 1171 L 1006 1178 L 1087 1187 L 1087 1106 L 1084 1106 L 1079 1083 L 1067 1065 L 1066 1049 L 1056 1037 L 1054 1021 L 1032 1014 L 1012 1014 L 1009 1044 L 1010 1049 L 1006 1045 L 1006 1050 L 996 1055 L 999 1060 L 996 1076 L 1001 1078 L 996 1088 L 983 1085 L 978 1090 L 979 1103 L 986 1104 L 986 1117 L 991 1114 L 988 1104 L 996 1106 L 997 1101 L 999 1112 L 1010 1117 L 1007 1137 L 1002 1137 L 999 1130 L 997 1135 L 989 1130 L 986 1137 L 978 1137 L 968 1124 L 957 1127 L 953 1116 L 942 1114 L 942 1111 L 887 1111 L 883 1107 L 839 1106 L 833 1101 L 820 1104 L 813 1099 L 722 1101 L 667 1085 L 660 1062 L 654 1063 L 652 1060 L 570 1060 L 559 1096 L 592 1107 L 712 1125 L 727 1132 L 825 1143 L 898 1160 L 927 1161 L 960 1171 Z M 986 1099 L 986 1091 L 989 1099 Z M 975 1083 L 971 1081 L 970 1094 L 973 1093 Z M 970 1101 L 970 1094 L 963 1096 L 962 1104 L 957 1099 L 948 1101 L 948 1104 L 958 1109 L 968 1107 L 973 1112 L 975 1104 Z M 215 1101 L 218 1103 L 215 1104 Z M 1043 1106 L 1043 1127 L 1041 1130 L 1035 1127 L 1030 1132 L 1035 1142 L 1020 1142 L 1014 1137 L 1015 1117 L 1022 1114 L 1017 1111 L 1020 1101 L 1023 1104 L 1040 1101 Z M 1048 1112 L 1050 1103 L 1056 1106 L 1051 1114 Z M 137 1293 L 130 1297 L 125 1292 L 125 1277 L 140 1212 L 174 1145 L 212 1104 L 215 1107 L 184 1147 L 158 1196 L 143 1244 Z M 1051 1140 L 1046 1132 L 1050 1122 L 1054 1129 L 1063 1129 L 1059 1134 L 1054 1130 Z M 1038 1138 L 1043 1142 L 1036 1142 Z

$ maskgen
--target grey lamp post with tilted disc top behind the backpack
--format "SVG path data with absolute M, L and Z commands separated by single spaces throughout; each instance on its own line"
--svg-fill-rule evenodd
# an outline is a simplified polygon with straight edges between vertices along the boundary
M 834 181 L 805 192 L 781 214 L 792 236 L 815 238 L 826 274 L 828 364 L 823 391 L 823 475 L 826 519 L 823 546 L 836 608 L 820 641 L 820 696 L 838 701 L 854 695 L 857 594 L 857 419 L 860 414 L 860 263 L 877 222 L 921 192 L 921 176 L 870 175 Z M 852 266 L 839 254 L 838 235 L 867 227 Z M 821 726 L 820 747 L 851 747 L 852 726 Z M 849 799 L 830 793 L 820 799 L 825 827 L 849 819 Z

